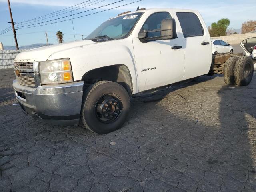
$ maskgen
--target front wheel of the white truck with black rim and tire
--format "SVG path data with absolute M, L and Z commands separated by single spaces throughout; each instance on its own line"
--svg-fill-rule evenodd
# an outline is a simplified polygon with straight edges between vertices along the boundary
M 81 122 L 92 132 L 106 134 L 121 128 L 129 113 L 130 97 L 116 82 L 97 82 L 84 93 Z

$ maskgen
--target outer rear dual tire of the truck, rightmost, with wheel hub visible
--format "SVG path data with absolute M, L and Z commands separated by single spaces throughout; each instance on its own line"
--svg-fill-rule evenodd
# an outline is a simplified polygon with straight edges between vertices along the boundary
M 234 67 L 234 80 L 239 86 L 248 85 L 253 76 L 252 58 L 248 56 L 239 57 Z

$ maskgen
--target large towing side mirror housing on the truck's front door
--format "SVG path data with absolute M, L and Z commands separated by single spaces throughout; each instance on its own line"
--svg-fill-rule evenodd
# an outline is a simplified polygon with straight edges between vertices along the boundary
M 176 38 L 176 24 L 174 19 L 163 19 L 161 21 L 162 39 Z

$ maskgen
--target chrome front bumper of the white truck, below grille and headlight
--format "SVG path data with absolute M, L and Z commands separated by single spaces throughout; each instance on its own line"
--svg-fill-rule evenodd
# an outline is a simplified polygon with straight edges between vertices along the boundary
M 84 82 L 22 86 L 13 81 L 16 99 L 24 112 L 52 124 L 78 124 Z

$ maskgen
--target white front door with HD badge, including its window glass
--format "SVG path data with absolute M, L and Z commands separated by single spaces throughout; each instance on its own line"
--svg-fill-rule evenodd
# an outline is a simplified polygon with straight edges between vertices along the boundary
M 141 30 L 161 28 L 163 19 L 171 18 L 169 12 L 150 15 Z M 148 32 L 148 37 L 160 36 L 160 32 Z M 133 36 L 139 92 L 182 80 L 184 75 L 184 38 L 148 40 Z M 172 49 L 174 46 L 182 46 Z

